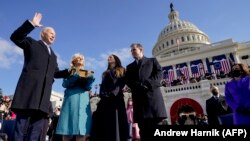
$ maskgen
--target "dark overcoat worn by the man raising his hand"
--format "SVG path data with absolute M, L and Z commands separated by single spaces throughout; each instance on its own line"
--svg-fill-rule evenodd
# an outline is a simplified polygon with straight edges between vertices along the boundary
M 40 40 L 27 35 L 34 26 L 25 21 L 12 33 L 10 39 L 23 50 L 24 65 L 13 97 L 11 109 L 16 113 L 49 113 L 52 83 L 58 69 L 57 58 L 51 49 Z M 65 72 L 67 73 L 67 72 Z

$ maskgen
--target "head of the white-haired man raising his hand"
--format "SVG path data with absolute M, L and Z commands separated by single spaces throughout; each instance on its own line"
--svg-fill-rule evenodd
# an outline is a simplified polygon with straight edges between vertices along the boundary
M 47 28 L 42 32 L 42 40 L 47 43 L 48 45 L 51 45 L 56 38 L 56 33 L 53 28 Z

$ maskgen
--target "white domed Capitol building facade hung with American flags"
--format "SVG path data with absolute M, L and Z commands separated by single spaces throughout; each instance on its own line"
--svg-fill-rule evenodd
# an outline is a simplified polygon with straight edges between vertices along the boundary
M 180 19 L 172 4 L 168 18 L 169 23 L 160 31 L 152 54 L 163 69 L 165 85 L 161 91 L 168 120 L 174 123 L 178 110 L 184 105 L 190 105 L 197 114 L 206 115 L 206 99 L 212 96 L 210 86 L 217 86 L 224 94 L 231 64 L 249 65 L 250 42 L 225 39 L 210 43 L 206 33 Z M 125 94 L 125 99 L 129 95 Z M 62 99 L 62 95 L 52 93 L 53 106 L 60 106 Z M 93 110 L 98 100 L 98 97 L 91 98 Z

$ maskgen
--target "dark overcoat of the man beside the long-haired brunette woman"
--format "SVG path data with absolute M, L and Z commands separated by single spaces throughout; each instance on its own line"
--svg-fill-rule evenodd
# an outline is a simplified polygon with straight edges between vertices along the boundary
M 142 58 L 140 66 L 136 61 L 127 66 L 126 84 L 133 99 L 134 120 L 145 118 L 163 119 L 167 117 L 163 96 L 160 91 L 162 70 L 155 58 Z M 146 86 L 147 88 L 145 89 Z

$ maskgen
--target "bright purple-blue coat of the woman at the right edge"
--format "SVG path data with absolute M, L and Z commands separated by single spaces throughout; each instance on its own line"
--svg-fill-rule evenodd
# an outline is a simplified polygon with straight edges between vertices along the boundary
M 233 109 L 235 125 L 250 125 L 250 76 L 231 80 L 225 86 L 227 104 Z

